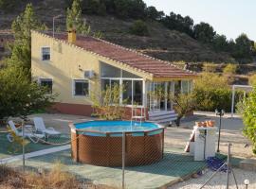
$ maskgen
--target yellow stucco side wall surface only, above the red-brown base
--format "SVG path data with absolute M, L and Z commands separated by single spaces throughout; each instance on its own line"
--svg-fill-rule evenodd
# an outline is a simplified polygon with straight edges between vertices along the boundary
M 31 44 L 32 78 L 52 78 L 53 92 L 58 94 L 56 102 L 90 105 L 88 97 L 73 95 L 73 79 L 84 79 L 83 70 L 93 70 L 96 77 L 89 80 L 89 88 L 94 91 L 99 80 L 99 59 L 73 45 L 33 32 Z M 42 60 L 42 47 L 50 47 L 50 60 Z

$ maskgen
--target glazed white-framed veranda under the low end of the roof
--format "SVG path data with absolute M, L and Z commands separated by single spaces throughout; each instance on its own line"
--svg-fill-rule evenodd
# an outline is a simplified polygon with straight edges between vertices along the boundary
M 184 71 L 185 72 L 185 71 Z M 126 107 L 145 109 L 149 115 L 162 115 L 174 113 L 174 103 L 168 96 L 170 94 L 186 94 L 192 91 L 194 76 L 182 77 L 145 77 L 133 70 L 120 69 L 105 62 L 101 62 L 101 89 L 118 84 L 120 88 L 119 103 L 125 100 Z M 158 91 L 162 94 L 159 94 Z M 151 116 L 149 116 L 151 118 Z

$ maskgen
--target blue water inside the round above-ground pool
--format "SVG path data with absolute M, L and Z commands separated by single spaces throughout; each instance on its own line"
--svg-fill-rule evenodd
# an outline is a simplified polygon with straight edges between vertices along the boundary
M 133 121 L 88 121 L 84 123 L 75 124 L 76 129 L 82 129 L 82 133 L 85 135 L 93 135 L 93 136 L 102 136 L 105 135 L 105 132 L 123 132 L 123 131 L 150 131 L 153 130 L 152 133 L 156 134 L 161 132 L 162 130 L 156 130 L 161 128 L 160 126 L 152 123 L 152 122 L 135 122 Z M 99 131 L 102 133 L 92 133 L 90 131 Z M 134 133 L 135 135 L 143 135 L 141 133 Z M 133 135 L 134 135 L 133 134 Z M 119 136 L 120 134 L 112 134 L 111 136 Z

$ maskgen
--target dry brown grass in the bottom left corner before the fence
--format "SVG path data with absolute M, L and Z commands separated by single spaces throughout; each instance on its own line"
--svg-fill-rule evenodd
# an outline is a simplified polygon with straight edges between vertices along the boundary
M 57 163 L 50 171 L 42 173 L 16 171 L 8 166 L 0 166 L 0 189 L 100 189 L 104 186 L 95 186 L 82 183 L 73 175 L 63 170 L 63 165 Z

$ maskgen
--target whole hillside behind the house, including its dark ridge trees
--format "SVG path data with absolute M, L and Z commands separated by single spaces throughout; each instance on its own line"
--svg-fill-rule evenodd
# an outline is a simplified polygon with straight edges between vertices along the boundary
M 73 0 L 0 0 L 0 28 L 9 28 L 29 2 L 51 30 L 52 18 L 65 15 Z M 246 34 L 229 40 L 208 23 L 195 25 L 190 16 L 165 13 L 142 0 L 81 0 L 80 4 L 87 32 L 101 31 L 105 40 L 161 60 L 251 62 L 256 54 Z M 65 18 L 56 20 L 56 30 L 65 31 L 65 25 Z

